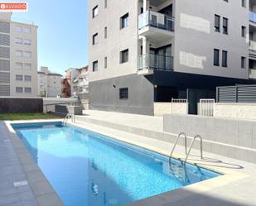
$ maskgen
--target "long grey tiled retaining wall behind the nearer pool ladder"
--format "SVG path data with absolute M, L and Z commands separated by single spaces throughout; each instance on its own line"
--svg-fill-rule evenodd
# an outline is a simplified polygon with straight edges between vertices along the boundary
M 178 114 L 164 115 L 163 121 L 164 132 L 199 134 L 204 151 L 256 163 L 256 121 Z

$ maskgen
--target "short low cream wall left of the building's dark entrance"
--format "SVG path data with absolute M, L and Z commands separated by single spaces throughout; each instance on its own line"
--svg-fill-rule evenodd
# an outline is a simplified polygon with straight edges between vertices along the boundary
M 187 114 L 188 103 L 154 103 L 154 115 L 163 116 L 164 114 Z

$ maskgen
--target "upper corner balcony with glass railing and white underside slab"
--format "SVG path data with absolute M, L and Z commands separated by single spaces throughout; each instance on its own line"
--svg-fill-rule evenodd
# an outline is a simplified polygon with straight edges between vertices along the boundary
M 174 33 L 174 17 L 147 10 L 138 16 L 138 35 L 170 40 Z

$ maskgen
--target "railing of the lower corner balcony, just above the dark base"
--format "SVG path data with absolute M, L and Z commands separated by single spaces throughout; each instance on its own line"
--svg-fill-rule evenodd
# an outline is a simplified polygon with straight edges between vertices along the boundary
M 172 71 L 173 57 L 154 54 L 140 55 L 138 57 L 138 70 L 143 69 Z

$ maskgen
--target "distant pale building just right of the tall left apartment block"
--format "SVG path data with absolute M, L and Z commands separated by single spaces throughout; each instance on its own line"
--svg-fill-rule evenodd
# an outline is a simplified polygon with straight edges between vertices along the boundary
M 58 97 L 61 93 L 62 75 L 52 73 L 48 67 L 41 67 L 38 75 L 38 96 L 40 97 Z

